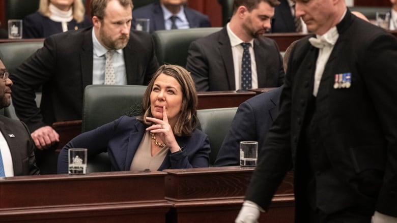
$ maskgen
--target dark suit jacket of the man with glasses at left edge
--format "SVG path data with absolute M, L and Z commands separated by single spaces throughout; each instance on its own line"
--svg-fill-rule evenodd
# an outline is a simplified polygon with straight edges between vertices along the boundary
M 11 152 L 14 176 L 39 175 L 35 160 L 35 143 L 26 125 L 0 115 L 0 131 Z

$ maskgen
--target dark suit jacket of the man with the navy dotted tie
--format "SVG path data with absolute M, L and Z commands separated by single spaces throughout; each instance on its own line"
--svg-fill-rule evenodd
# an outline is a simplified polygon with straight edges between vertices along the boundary
M 253 50 L 258 87 L 281 86 L 284 71 L 276 42 L 265 37 L 256 38 Z M 190 44 L 186 69 L 191 72 L 197 91 L 236 89 L 232 47 L 226 27 Z

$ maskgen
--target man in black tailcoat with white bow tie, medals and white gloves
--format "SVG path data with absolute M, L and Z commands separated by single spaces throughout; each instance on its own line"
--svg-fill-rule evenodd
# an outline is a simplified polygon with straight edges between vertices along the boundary
M 397 221 L 397 39 L 345 0 L 296 0 L 294 46 L 236 222 L 267 211 L 294 165 L 296 222 Z

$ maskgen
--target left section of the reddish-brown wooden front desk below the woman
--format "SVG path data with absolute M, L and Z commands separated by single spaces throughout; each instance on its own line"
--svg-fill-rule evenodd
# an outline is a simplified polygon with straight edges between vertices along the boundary
M 0 180 L 1 222 L 165 222 L 166 173 L 108 172 Z

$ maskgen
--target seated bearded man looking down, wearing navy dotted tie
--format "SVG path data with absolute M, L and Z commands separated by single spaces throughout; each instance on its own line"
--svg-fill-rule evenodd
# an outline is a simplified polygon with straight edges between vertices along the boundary
M 270 29 L 277 0 L 235 0 L 228 24 L 193 41 L 186 69 L 197 91 L 278 87 L 284 80 L 282 58 Z

